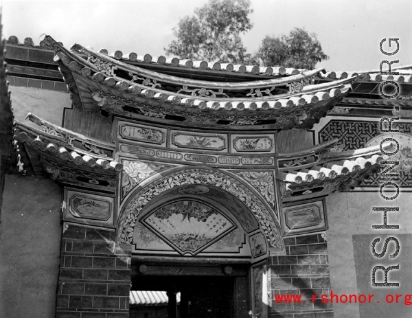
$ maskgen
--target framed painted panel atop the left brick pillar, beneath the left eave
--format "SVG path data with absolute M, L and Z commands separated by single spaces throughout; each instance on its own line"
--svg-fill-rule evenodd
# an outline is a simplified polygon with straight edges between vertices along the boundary
M 82 224 L 113 226 L 114 201 L 111 196 L 66 189 L 63 219 Z

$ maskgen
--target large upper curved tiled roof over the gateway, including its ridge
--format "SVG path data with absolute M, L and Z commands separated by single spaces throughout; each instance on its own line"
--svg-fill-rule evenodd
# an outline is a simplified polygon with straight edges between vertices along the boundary
M 49 36 L 43 41 L 56 50 L 56 60 L 78 108 L 97 111 L 102 107 L 109 113 L 130 115 L 131 107 L 157 118 L 177 115 L 185 124 L 197 125 L 207 119 L 208 124 L 223 121 L 223 127 L 232 122 L 249 124 L 263 116 L 260 124 L 271 120 L 275 129 L 309 127 L 349 93 L 357 79 L 312 84 L 320 71 L 314 70 L 246 82 L 192 80 L 128 65 L 80 45 L 73 46 L 74 54 Z M 198 114 L 203 117 L 192 120 Z

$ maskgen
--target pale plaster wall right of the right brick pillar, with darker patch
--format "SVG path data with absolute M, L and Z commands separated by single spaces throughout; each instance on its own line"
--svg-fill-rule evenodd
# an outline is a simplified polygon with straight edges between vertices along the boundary
M 388 294 L 404 296 L 411 293 L 412 283 L 407 278 L 412 275 L 409 248 L 412 241 L 412 218 L 409 214 L 411 197 L 407 192 L 400 192 L 398 198 L 387 201 L 380 196 L 378 189 L 369 191 L 372 192 L 332 194 L 326 199 L 329 221 L 326 240 L 332 291 L 339 295 L 375 295 L 371 304 L 333 304 L 334 317 L 391 317 L 395 310 L 396 317 L 411 317 L 412 308 L 405 305 L 403 300 L 400 304 L 384 304 Z M 387 224 L 399 225 L 400 229 L 372 229 L 372 225 L 383 225 L 383 212 L 373 212 L 372 207 L 399 207 L 399 212 L 387 212 Z M 375 258 L 371 252 L 371 242 L 380 238 L 376 245 L 379 253 L 387 237 L 398 238 L 398 256 L 389 259 L 389 254 L 395 251 L 394 243 L 390 242 L 385 256 Z M 371 286 L 371 271 L 380 264 L 385 267 L 400 265 L 399 271 L 389 273 L 389 282 L 400 282 L 399 287 Z M 378 299 L 380 304 L 377 304 Z

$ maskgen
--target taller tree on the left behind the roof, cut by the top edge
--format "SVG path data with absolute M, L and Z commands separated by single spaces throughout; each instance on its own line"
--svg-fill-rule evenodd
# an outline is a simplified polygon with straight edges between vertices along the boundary
M 249 0 L 210 0 L 173 29 L 166 54 L 192 60 L 243 63 L 249 55 L 240 34 L 251 29 Z

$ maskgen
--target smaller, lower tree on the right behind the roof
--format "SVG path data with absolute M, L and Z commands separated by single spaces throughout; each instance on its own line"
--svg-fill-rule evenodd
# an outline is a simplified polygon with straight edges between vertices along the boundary
M 288 36 L 281 38 L 265 36 L 255 60 L 265 66 L 295 67 L 314 69 L 318 62 L 329 57 L 322 51 L 316 34 L 309 34 L 304 29 L 295 28 Z

